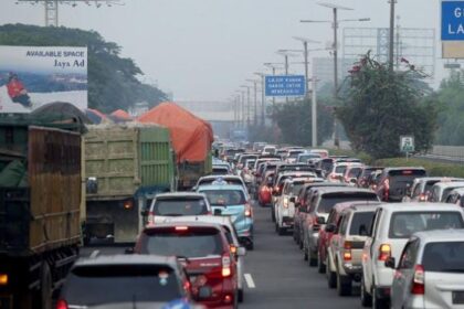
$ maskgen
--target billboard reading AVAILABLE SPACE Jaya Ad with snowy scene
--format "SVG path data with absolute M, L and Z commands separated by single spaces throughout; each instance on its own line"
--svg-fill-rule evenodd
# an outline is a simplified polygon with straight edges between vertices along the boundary
M 0 113 L 52 102 L 87 108 L 87 47 L 0 46 Z

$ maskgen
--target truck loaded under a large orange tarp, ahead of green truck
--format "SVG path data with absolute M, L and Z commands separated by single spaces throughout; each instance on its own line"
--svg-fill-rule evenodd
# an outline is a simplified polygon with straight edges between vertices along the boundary
M 212 172 L 214 137 L 209 122 L 172 102 L 161 103 L 137 120 L 169 129 L 176 151 L 177 190 L 189 190 L 200 177 Z

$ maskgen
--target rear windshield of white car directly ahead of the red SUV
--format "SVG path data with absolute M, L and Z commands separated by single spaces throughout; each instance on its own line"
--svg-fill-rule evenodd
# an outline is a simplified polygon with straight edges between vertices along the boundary
M 208 205 L 203 199 L 156 200 L 156 215 L 180 216 L 208 214 Z

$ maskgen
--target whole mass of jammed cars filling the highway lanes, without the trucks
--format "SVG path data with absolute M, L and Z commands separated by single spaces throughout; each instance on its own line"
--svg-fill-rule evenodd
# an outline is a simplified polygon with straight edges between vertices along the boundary
M 210 175 L 154 198 L 125 255 L 78 259 L 55 308 L 246 305 L 257 210 L 339 297 L 359 287 L 362 307 L 464 306 L 464 179 L 325 149 L 215 141 L 213 151 Z

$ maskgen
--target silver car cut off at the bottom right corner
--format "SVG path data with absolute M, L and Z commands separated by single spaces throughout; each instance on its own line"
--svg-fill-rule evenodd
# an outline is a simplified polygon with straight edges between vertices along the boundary
M 464 302 L 464 231 L 415 233 L 394 268 L 391 308 L 462 308 Z M 397 266 L 398 264 L 398 266 Z

